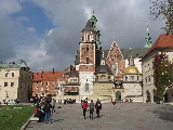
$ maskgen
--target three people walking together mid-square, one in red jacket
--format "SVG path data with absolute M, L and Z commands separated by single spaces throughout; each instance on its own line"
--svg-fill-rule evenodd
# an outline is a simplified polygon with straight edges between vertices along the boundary
M 90 119 L 93 119 L 94 108 L 96 109 L 96 116 L 99 117 L 99 110 L 102 109 L 102 103 L 98 99 L 97 99 L 95 104 L 93 103 L 93 100 L 91 100 L 91 103 L 88 103 L 88 101 L 84 100 L 82 102 L 81 106 L 82 106 L 82 109 L 83 109 L 84 119 L 86 119 L 86 117 L 85 117 L 86 110 L 90 110 Z

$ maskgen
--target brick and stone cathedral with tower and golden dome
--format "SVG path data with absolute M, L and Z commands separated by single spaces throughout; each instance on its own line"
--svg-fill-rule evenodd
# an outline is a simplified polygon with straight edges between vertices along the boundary
M 151 47 L 147 28 L 146 44 L 139 49 L 120 49 L 112 41 L 103 50 L 94 13 L 81 30 L 79 51 L 75 64 L 64 70 L 58 79 L 58 94 L 77 95 L 80 100 L 131 98 L 142 102 L 142 57 Z

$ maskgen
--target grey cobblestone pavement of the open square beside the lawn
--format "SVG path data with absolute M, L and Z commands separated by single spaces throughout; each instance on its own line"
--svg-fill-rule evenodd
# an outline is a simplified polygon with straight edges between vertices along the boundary
M 86 115 L 84 119 L 80 104 L 63 105 L 53 123 L 30 122 L 26 130 L 173 130 L 173 105 L 105 103 L 101 118 L 91 120 Z

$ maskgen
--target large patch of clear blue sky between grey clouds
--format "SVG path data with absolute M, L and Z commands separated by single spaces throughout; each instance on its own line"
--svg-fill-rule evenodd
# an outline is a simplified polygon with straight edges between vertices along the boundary
M 45 31 L 54 28 L 52 21 L 45 15 L 45 11 L 31 1 L 19 2 L 22 11 L 13 14 L 14 18 L 25 16 L 28 21 L 22 24 L 24 27 L 35 27 L 38 35 L 42 36 Z

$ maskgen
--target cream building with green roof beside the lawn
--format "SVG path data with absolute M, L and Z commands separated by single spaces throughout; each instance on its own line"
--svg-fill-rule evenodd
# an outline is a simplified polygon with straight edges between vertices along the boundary
M 32 73 L 24 61 L 0 63 L 0 102 L 18 100 L 28 102 L 31 98 Z

